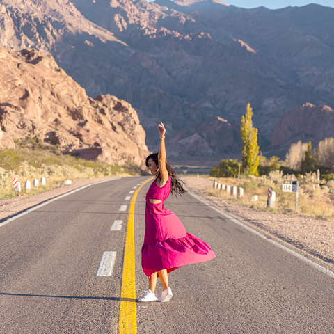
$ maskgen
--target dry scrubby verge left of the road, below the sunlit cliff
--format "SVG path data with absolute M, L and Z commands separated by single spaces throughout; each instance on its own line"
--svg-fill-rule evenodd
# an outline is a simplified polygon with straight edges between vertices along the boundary
M 66 179 L 133 174 L 118 165 L 87 161 L 61 154 L 57 150 L 49 150 L 40 142 L 27 140 L 15 143 L 15 149 L 0 150 L 0 166 L 10 170 L 0 171 L 0 200 L 47 191 L 63 184 Z M 15 193 L 13 177 L 17 177 L 21 183 L 21 193 Z M 40 177 L 47 179 L 46 186 L 32 188 L 31 191 L 24 190 L 26 180 L 39 180 Z

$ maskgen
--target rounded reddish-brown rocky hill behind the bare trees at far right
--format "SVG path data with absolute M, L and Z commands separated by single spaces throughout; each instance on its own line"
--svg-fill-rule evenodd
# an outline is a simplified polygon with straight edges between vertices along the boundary
M 273 132 L 273 149 L 285 151 L 292 143 L 302 141 L 315 147 L 325 138 L 334 138 L 334 110 L 329 106 L 305 103 L 280 118 Z

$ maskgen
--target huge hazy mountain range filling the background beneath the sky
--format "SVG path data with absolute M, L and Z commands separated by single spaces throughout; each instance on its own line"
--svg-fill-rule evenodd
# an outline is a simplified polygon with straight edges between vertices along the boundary
M 49 52 L 90 97 L 111 93 L 131 103 L 150 150 L 164 122 L 175 161 L 238 155 L 235 134 L 248 102 L 269 156 L 287 111 L 306 102 L 334 106 L 333 8 L 246 10 L 220 0 L 1 3 L 1 45 Z M 233 145 L 207 126 L 216 116 L 228 120 Z M 188 146 L 196 143 L 209 149 Z

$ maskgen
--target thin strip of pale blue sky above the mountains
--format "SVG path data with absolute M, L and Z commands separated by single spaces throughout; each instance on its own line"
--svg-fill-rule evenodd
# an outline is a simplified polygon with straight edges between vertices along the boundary
M 147 0 L 148 2 L 152 0 Z M 269 9 L 284 8 L 287 6 L 305 6 L 309 3 L 317 3 L 318 5 L 334 8 L 334 0 L 222 0 L 228 5 L 234 5 L 242 8 L 255 8 L 264 6 Z

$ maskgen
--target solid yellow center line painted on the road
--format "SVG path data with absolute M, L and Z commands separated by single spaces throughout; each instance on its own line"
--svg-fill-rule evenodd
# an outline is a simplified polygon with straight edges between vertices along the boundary
M 129 212 L 127 213 L 127 234 L 125 237 L 125 250 L 122 273 L 122 289 L 120 292 L 120 317 L 118 320 L 118 334 L 136 334 L 136 285 L 135 285 L 135 267 L 134 267 L 134 205 L 136 197 L 141 187 L 152 180 L 145 181 L 136 189 L 130 202 Z M 125 301 L 124 299 L 132 299 Z

